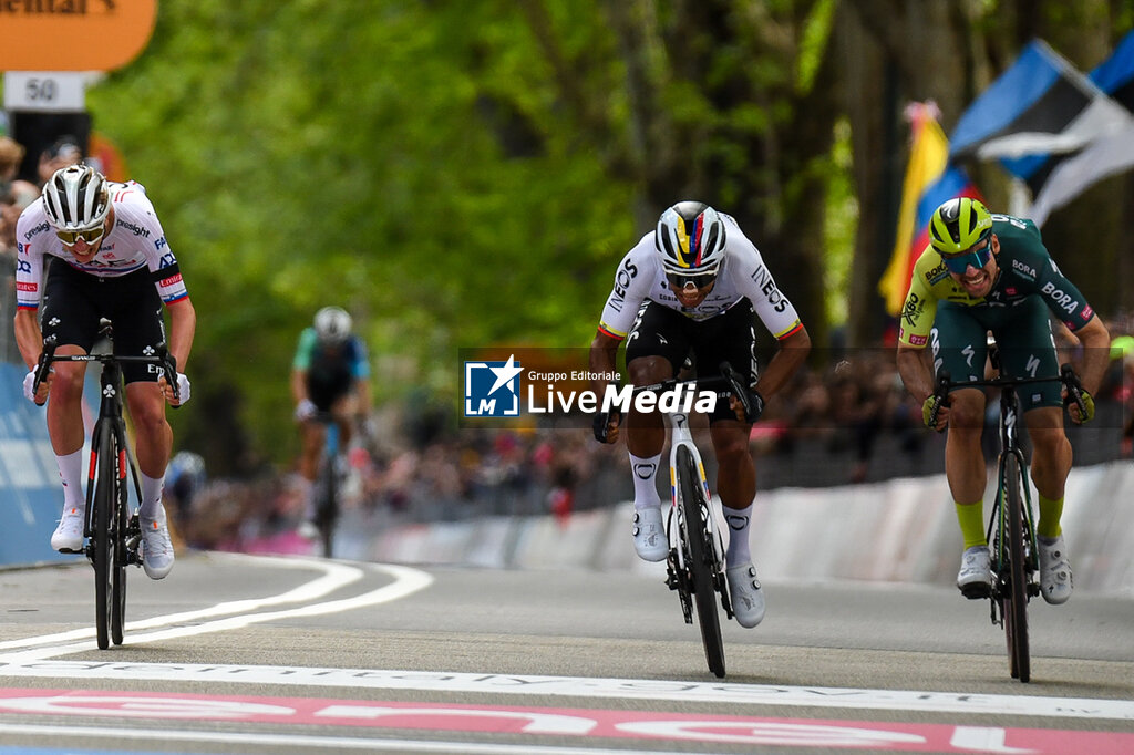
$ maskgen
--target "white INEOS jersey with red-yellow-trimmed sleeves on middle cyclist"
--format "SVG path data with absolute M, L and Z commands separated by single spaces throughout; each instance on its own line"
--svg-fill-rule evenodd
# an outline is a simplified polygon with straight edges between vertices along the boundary
M 799 315 L 776 287 L 760 251 L 744 235 L 735 219 L 725 213 L 719 214 L 727 226 L 725 258 L 717 273 L 717 283 L 704 302 L 695 307 L 682 306 L 666 281 L 666 272 L 654 245 L 655 231 L 650 231 L 626 253 L 618 265 L 615 288 L 602 309 L 599 330 L 613 338 L 625 338 L 634 324 L 638 308 L 646 299 L 700 322 L 727 312 L 744 298 L 752 302 L 761 322 L 777 339 L 798 330 Z

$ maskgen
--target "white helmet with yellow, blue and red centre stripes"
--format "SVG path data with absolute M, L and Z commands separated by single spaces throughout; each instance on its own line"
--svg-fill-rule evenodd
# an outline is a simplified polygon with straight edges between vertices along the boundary
M 725 223 L 703 202 L 678 202 L 658 219 L 661 266 L 680 275 L 716 275 L 725 258 Z

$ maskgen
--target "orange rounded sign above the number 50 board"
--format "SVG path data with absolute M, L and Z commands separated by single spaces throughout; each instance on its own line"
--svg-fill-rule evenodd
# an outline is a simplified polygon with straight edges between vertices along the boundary
M 0 0 L 0 70 L 120 68 L 156 16 L 156 0 Z

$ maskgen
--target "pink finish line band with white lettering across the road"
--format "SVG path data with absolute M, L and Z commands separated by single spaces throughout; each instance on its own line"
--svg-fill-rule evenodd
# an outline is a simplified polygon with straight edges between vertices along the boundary
M 0 689 L 0 714 L 102 718 L 130 720 L 133 727 L 71 727 L 0 721 L 0 735 L 22 733 L 50 738 L 82 737 L 84 740 L 121 737 L 168 741 L 239 741 L 248 745 L 303 745 L 306 749 L 369 749 L 386 733 L 429 731 L 433 735 L 528 735 L 556 737 L 559 744 L 533 746 L 482 741 L 464 745 L 435 739 L 383 741 L 396 752 L 547 753 L 566 755 L 613 755 L 628 750 L 579 748 L 568 740 L 637 740 L 674 746 L 679 743 L 739 745 L 752 748 L 853 749 L 903 753 L 985 753 L 987 755 L 1126 755 L 1134 747 L 1134 733 L 1105 731 L 1059 731 L 1002 727 L 971 727 L 948 723 L 900 723 L 847 720 L 772 719 L 744 715 L 665 713 L 655 711 L 511 707 L 445 703 L 324 699 L 312 697 L 243 697 L 194 694 L 107 693 L 75 689 Z M 223 721 L 255 726 L 259 731 L 169 731 L 171 721 Z M 160 727 L 160 729 L 158 728 Z M 269 730 L 270 727 L 270 730 Z M 280 731 L 288 727 L 333 727 L 335 733 L 303 737 Z M 354 730 L 365 736 L 350 736 Z M 296 732 L 298 733 L 298 732 Z M 509 746 L 510 745 L 510 746 Z M 5 750 L 0 749 L 0 753 Z M 39 752 L 39 750 L 37 750 Z M 56 750 L 52 750 L 56 752 Z M 61 750 L 60 750 L 61 752 Z M 634 750 L 637 753 L 638 750 Z M 675 752 L 675 750 L 667 750 Z

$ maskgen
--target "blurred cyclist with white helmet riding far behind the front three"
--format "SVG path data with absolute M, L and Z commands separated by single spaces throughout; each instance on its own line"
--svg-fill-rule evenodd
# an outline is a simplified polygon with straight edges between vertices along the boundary
M 313 326 L 299 334 L 291 363 L 291 397 L 303 444 L 299 474 L 308 483 L 319 473 L 325 419 L 338 425 L 339 448 L 346 449 L 354 423 L 370 414 L 370 362 L 353 328 L 345 309 L 330 306 L 316 312 Z

